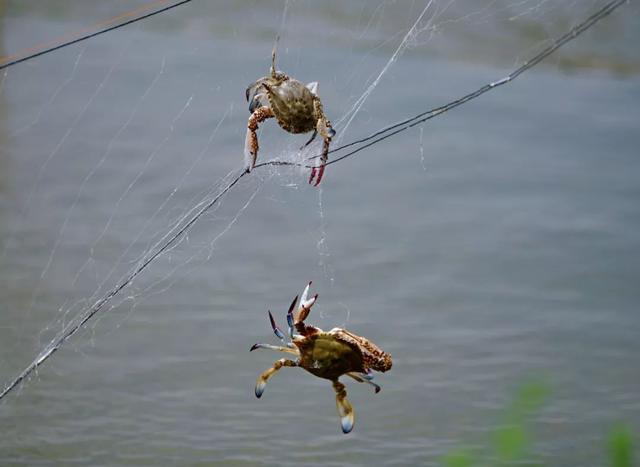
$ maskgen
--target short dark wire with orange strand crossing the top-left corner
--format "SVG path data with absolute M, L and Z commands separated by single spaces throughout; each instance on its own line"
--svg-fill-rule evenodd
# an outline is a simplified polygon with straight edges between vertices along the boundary
M 53 45 L 51 47 L 48 47 L 48 44 L 50 44 L 50 43 L 40 44 L 40 45 L 37 45 L 37 46 L 32 47 L 30 49 L 27 49 L 26 51 L 24 51 L 22 53 L 18 53 L 18 54 L 15 54 L 15 55 L 10 55 L 10 56 L 7 56 L 7 57 L 0 57 L 0 61 L 5 62 L 5 63 L 0 65 L 0 70 L 2 70 L 4 68 L 8 68 L 8 67 L 13 66 L 13 65 L 16 65 L 18 63 L 25 62 L 27 60 L 31 60 L 32 58 L 39 57 L 40 55 L 48 54 L 48 53 L 53 52 L 55 50 L 59 50 L 59 49 L 62 49 L 64 47 L 67 47 L 67 46 L 70 46 L 70 45 L 73 45 L 73 44 L 77 44 L 78 42 L 82 42 L 84 40 L 91 39 L 92 37 L 99 36 L 100 34 L 104 34 L 105 32 L 113 31 L 114 29 L 118 29 L 118 28 L 121 28 L 121 27 L 124 27 L 124 26 L 128 26 L 129 24 L 136 23 L 136 22 L 141 21 L 141 20 L 146 19 L 146 18 L 150 18 L 151 16 L 155 16 L 155 15 L 158 15 L 160 13 L 164 13 L 165 11 L 171 10 L 173 8 L 176 8 L 176 7 L 180 6 L 180 5 L 184 5 L 185 3 L 189 3 L 190 1 L 191 0 L 182 0 L 182 1 L 179 1 L 179 2 L 176 2 L 176 3 L 173 3 L 171 5 L 167 5 L 164 8 L 160 8 L 159 10 L 154 10 L 154 11 L 152 11 L 150 13 L 146 13 L 144 15 L 136 16 L 136 17 L 134 17 L 134 18 L 132 18 L 132 19 L 130 19 L 128 21 L 125 21 L 123 23 L 118 23 L 118 24 L 115 24 L 113 26 L 109 26 L 109 27 L 100 29 L 98 31 L 94 31 L 94 32 L 89 33 L 89 34 L 85 34 L 83 36 L 76 37 L 75 39 L 71 39 L 71 40 L 64 41 L 64 42 L 54 41 L 53 43 L 55 45 Z M 76 34 L 80 34 L 82 32 L 88 31 L 88 30 L 93 30 L 96 27 L 100 27 L 100 26 L 102 26 L 104 24 L 111 24 L 114 21 L 117 21 L 117 20 L 123 19 L 123 18 L 127 18 L 127 17 L 135 15 L 135 14 L 141 12 L 141 11 L 148 10 L 149 8 L 151 8 L 154 5 L 157 5 L 159 3 L 166 3 L 166 2 L 167 2 L 167 0 L 149 2 L 149 3 L 143 5 L 143 6 L 139 7 L 139 8 L 136 8 L 135 10 L 130 10 L 130 11 L 122 13 L 122 14 L 120 14 L 118 16 L 114 16 L 113 18 L 109 18 L 107 20 L 101 21 L 101 22 L 95 24 L 94 26 L 92 26 L 90 28 L 82 29 L 81 31 L 79 31 Z M 76 34 L 74 34 L 74 36 Z M 47 48 L 42 49 L 43 47 L 47 47 Z M 15 58 L 15 57 L 18 57 L 18 56 L 22 55 L 23 53 L 28 53 L 28 52 L 30 52 L 32 50 L 37 50 L 37 52 L 30 53 L 29 55 L 26 55 L 24 57 Z

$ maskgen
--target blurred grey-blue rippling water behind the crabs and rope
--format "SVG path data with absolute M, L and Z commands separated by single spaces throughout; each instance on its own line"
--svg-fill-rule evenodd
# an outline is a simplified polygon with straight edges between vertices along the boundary
M 604 3 L 195 1 L 2 70 L 0 386 L 241 168 L 244 91 L 276 35 L 278 67 L 320 83 L 345 143 L 500 79 Z M 0 53 L 144 4 L 5 0 Z M 490 459 L 533 379 L 548 394 L 523 459 L 605 465 L 612 427 L 640 431 L 638 13 L 331 165 L 319 189 L 298 169 L 245 177 L 0 404 L 0 464 Z M 259 158 L 307 137 L 266 122 Z M 284 324 L 309 280 L 311 323 L 394 357 L 379 394 L 347 383 L 347 436 L 303 370 L 253 394 L 280 358 L 248 352 L 275 339 L 267 309 Z

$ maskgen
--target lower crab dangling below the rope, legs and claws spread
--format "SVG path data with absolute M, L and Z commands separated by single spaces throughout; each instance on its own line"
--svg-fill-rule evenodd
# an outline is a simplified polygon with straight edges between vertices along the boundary
M 336 393 L 336 406 L 340 416 L 340 425 L 343 433 L 349 433 L 353 429 L 354 411 L 347 400 L 347 391 L 338 378 L 348 376 L 359 383 L 373 386 L 376 393 L 380 392 L 380 386 L 374 383 L 372 370 L 385 372 L 391 369 L 391 355 L 382 351 L 378 346 L 364 337 L 358 336 L 346 329 L 333 328 L 329 332 L 306 324 L 304 320 L 309 316 L 311 307 L 318 299 L 318 294 L 309 298 L 307 284 L 300 304 L 298 296 L 293 299 L 287 312 L 288 336 L 278 327 L 271 314 L 269 321 L 274 334 L 280 339 L 282 345 L 254 344 L 250 351 L 256 349 L 271 349 L 296 356 L 295 360 L 281 358 L 273 366 L 263 372 L 256 382 L 255 394 L 260 398 L 269 378 L 282 367 L 300 367 L 314 376 L 328 379 Z M 297 332 L 297 333 L 296 333 Z

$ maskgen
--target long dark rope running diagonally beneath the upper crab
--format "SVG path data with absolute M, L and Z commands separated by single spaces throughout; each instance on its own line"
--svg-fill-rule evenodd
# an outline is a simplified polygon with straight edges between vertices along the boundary
M 353 146 L 355 144 L 361 144 L 361 143 L 367 143 L 337 159 L 334 159 L 332 161 L 330 161 L 328 164 L 335 164 L 336 162 L 339 162 L 343 159 L 346 159 L 347 157 L 350 157 L 360 151 L 362 151 L 363 149 L 373 146 L 374 144 L 387 139 L 393 135 L 396 135 L 402 131 L 405 131 L 413 126 L 416 126 L 420 123 L 424 123 L 427 120 L 430 120 L 438 115 L 442 115 L 445 112 L 448 112 L 449 110 L 458 107 L 459 105 L 462 105 L 466 102 L 469 102 L 472 99 L 475 99 L 476 97 L 484 94 L 485 92 L 494 89 L 498 86 L 501 86 L 503 84 L 506 84 L 508 82 L 513 81 L 515 78 L 517 78 L 519 75 L 521 75 L 522 73 L 524 73 L 525 71 L 527 71 L 528 69 L 536 66 L 538 63 L 540 63 L 544 58 L 546 58 L 547 56 L 549 56 L 550 54 L 552 54 L 555 50 L 557 50 L 558 48 L 562 47 L 564 44 L 566 44 L 567 42 L 570 42 L 571 40 L 575 39 L 578 35 L 580 35 L 581 33 L 583 33 L 584 31 L 586 31 L 587 29 L 589 29 L 591 26 L 593 26 L 595 23 L 597 23 L 598 21 L 600 21 L 601 19 L 605 18 L 606 16 L 610 15 L 616 8 L 618 8 L 619 6 L 621 6 L 623 3 L 626 3 L 628 0 L 615 0 L 612 1 L 610 3 L 608 3 L 607 5 L 605 5 L 603 8 L 601 8 L 600 10 L 598 10 L 596 13 L 594 13 L 593 15 L 591 15 L 589 18 L 587 18 L 585 21 L 583 21 L 582 23 L 580 23 L 579 25 L 575 26 L 574 28 L 572 28 L 569 32 L 567 32 L 566 34 L 560 36 L 559 39 L 557 39 L 556 41 L 553 42 L 553 44 L 551 44 L 549 47 L 545 48 L 542 52 L 538 53 L 536 56 L 534 56 L 531 60 L 528 60 L 527 62 L 525 62 L 522 66 L 520 66 L 519 68 L 517 68 L 516 70 L 514 70 L 511 74 L 509 74 L 508 76 L 506 76 L 505 78 L 502 78 L 498 81 L 494 81 L 492 83 L 486 84 L 483 87 L 481 87 L 480 89 L 469 93 L 459 99 L 456 99 L 455 101 L 452 101 L 448 104 L 445 104 L 441 107 L 436 107 L 434 109 L 428 110 L 426 112 L 422 112 L 421 114 L 418 114 L 414 117 L 408 118 L 402 122 L 396 123 L 394 125 L 391 125 L 389 127 L 383 128 L 375 133 L 373 133 L 372 135 L 369 135 L 366 138 L 362 138 L 361 140 L 358 141 L 354 141 L 352 143 L 349 144 L 345 144 L 344 146 L 341 146 L 339 148 L 334 149 L 332 152 L 336 152 L 339 151 L 341 149 Z M 184 2 L 182 2 L 184 3 Z M 393 130 L 393 131 L 391 131 Z M 279 165 L 287 165 L 287 166 L 299 166 L 299 167 L 310 167 L 308 165 L 305 164 L 301 164 L 301 163 L 297 163 L 297 162 L 289 162 L 289 161 L 280 161 L 280 160 L 271 160 L 271 161 L 267 161 L 267 162 L 263 162 L 260 163 L 258 165 L 255 166 L 254 170 L 260 167 L 265 167 L 265 166 L 279 166 Z M 98 300 L 97 302 L 95 302 L 93 304 L 93 306 L 87 308 L 85 311 L 81 312 L 81 314 L 79 316 L 81 316 L 82 318 L 79 319 L 78 321 L 76 321 L 73 324 L 70 324 L 66 330 L 64 330 L 58 337 L 56 337 L 38 356 L 37 358 L 31 363 L 29 364 L 29 366 L 27 366 L 17 377 L 15 377 L 11 383 L 9 383 L 9 385 L 2 391 L 2 393 L 0 393 L 0 401 L 7 395 L 9 394 L 13 389 L 15 389 L 22 381 L 24 381 L 26 378 L 29 377 L 29 375 L 31 375 L 35 370 L 37 370 L 37 368 L 42 365 L 49 357 L 51 357 L 51 355 L 53 355 L 58 349 L 60 349 L 60 347 L 62 347 L 62 345 L 69 339 L 71 338 L 74 334 L 76 334 L 81 328 L 82 326 L 84 326 L 91 318 L 93 318 L 100 310 L 103 309 L 103 307 L 116 295 L 118 295 L 118 293 L 120 293 L 120 291 L 122 291 L 124 288 L 126 288 L 129 284 L 131 284 L 131 282 L 133 282 L 133 280 L 140 274 L 142 273 L 142 271 L 144 271 L 158 256 L 160 256 L 162 253 L 164 253 L 167 249 L 171 248 L 172 245 L 175 244 L 176 241 L 180 240 L 182 238 L 183 235 L 186 234 L 186 232 L 198 221 L 198 219 L 200 219 L 200 217 L 202 217 L 202 215 L 204 215 L 209 209 L 211 209 L 215 204 L 217 204 L 220 199 L 226 195 L 245 175 L 249 175 L 250 172 L 248 170 L 243 170 L 241 172 L 238 173 L 238 175 L 236 175 L 236 177 L 229 182 L 229 184 L 227 184 L 227 186 L 225 186 L 225 188 L 218 193 L 213 199 L 211 199 L 211 201 L 209 201 L 206 205 L 204 205 L 202 208 L 200 208 L 200 210 L 198 210 L 190 219 L 188 222 L 186 222 L 174 235 L 172 235 L 169 239 L 167 239 L 167 241 L 165 241 L 164 243 L 162 243 L 155 252 L 153 252 L 149 257 L 147 257 L 147 259 L 145 259 L 143 262 L 141 262 L 138 266 L 136 266 L 131 273 L 129 273 L 129 275 L 127 275 L 125 277 L 125 279 L 120 282 L 119 284 L 117 284 L 113 289 L 111 289 L 111 291 L 109 291 L 106 295 L 104 295 L 100 300 Z

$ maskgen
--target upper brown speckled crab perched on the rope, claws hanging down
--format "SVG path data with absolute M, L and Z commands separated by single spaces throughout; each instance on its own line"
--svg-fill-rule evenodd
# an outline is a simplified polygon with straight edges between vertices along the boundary
M 276 47 L 274 45 L 269 76 L 264 76 L 249 85 L 245 94 L 251 113 L 244 144 L 246 170 L 251 171 L 258 158 L 258 136 L 256 135 L 258 125 L 268 118 L 275 117 L 278 125 L 289 133 L 299 134 L 313 131 L 309 141 L 300 149 L 311 144 L 318 134 L 324 139 L 320 165 L 311 168 L 309 177 L 309 183 L 318 186 L 329 157 L 331 138 L 336 134 L 331 127 L 331 122 L 324 115 L 322 102 L 318 97 L 318 83 L 312 82 L 304 85 L 282 71 L 276 71 Z

